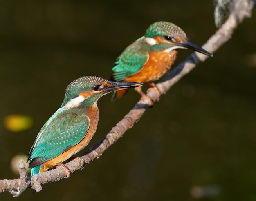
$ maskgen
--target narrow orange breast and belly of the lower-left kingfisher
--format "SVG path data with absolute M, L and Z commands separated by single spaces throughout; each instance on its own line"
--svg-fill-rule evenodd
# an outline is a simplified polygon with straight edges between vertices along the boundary
M 77 152 L 81 151 L 85 146 L 88 145 L 88 143 L 91 141 L 98 125 L 99 121 L 99 110 L 96 104 L 94 104 L 92 107 L 88 108 L 88 117 L 90 119 L 90 127 L 88 129 L 87 134 L 83 138 L 79 144 L 76 144 L 66 152 L 62 153 L 61 155 L 58 155 L 54 159 L 51 159 L 45 163 L 42 164 L 43 168 L 40 169 L 41 172 L 47 171 L 49 168 L 55 166 L 57 163 L 62 163 L 63 161 L 69 159 Z

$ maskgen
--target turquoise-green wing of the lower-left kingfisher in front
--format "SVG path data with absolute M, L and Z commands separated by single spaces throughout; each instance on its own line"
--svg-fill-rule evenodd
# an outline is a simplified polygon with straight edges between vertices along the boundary
M 87 134 L 90 119 L 86 115 L 60 108 L 45 123 L 29 152 L 29 167 L 49 161 L 78 144 Z

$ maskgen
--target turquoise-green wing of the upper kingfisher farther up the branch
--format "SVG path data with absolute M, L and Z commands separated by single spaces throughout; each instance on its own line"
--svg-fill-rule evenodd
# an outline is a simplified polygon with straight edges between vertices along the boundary
M 149 51 L 145 49 L 143 42 L 136 41 L 121 53 L 112 68 L 112 80 L 120 82 L 141 71 L 149 58 Z

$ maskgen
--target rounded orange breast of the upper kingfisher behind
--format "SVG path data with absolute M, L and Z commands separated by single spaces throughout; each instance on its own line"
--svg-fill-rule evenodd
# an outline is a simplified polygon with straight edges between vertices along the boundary
M 165 51 L 152 51 L 146 65 L 137 73 L 124 79 L 124 82 L 153 82 L 162 77 L 173 65 L 177 57 L 177 50 L 170 53 Z

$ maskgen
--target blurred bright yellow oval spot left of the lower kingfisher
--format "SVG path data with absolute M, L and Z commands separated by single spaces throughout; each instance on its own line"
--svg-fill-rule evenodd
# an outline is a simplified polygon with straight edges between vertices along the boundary
M 4 119 L 4 126 L 12 132 L 28 130 L 33 125 L 33 119 L 28 115 L 8 115 Z

